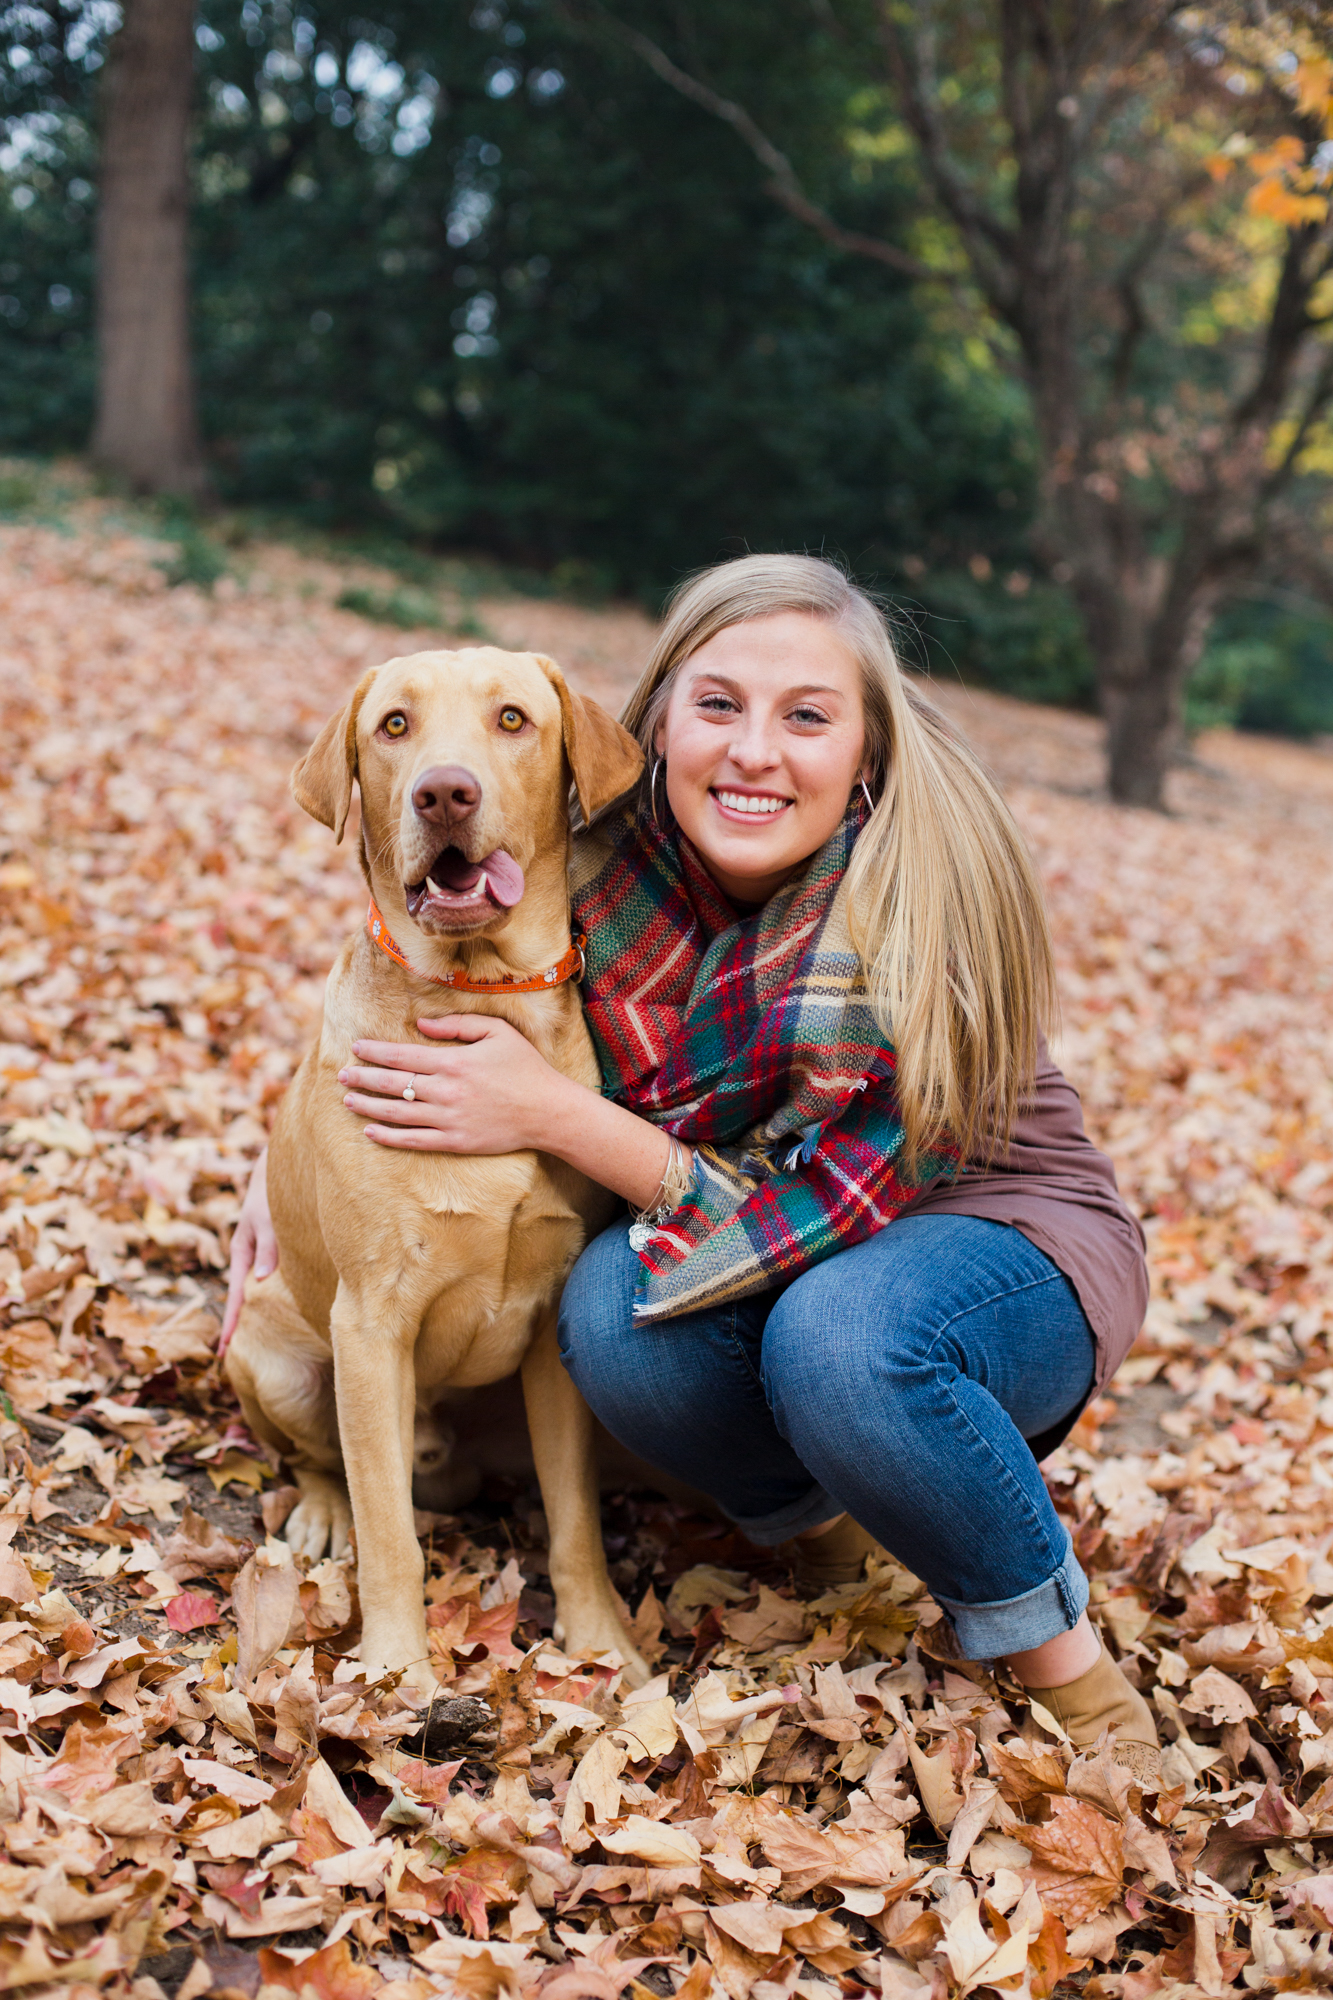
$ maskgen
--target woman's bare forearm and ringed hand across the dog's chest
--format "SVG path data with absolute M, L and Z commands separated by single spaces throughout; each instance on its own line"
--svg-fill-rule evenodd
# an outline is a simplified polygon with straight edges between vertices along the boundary
M 673 1160 L 658 1126 L 560 1076 L 508 1022 L 448 1014 L 416 1026 L 442 1046 L 352 1042 L 356 1060 L 338 1072 L 346 1108 L 372 1120 L 366 1138 L 408 1152 L 550 1152 L 632 1208 L 656 1200 Z

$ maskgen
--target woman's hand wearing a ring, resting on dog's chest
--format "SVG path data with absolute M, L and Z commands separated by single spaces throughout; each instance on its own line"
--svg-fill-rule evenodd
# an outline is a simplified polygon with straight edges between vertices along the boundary
M 444 1046 L 352 1042 L 356 1060 L 338 1070 L 346 1108 L 372 1120 L 366 1138 L 408 1152 L 546 1150 L 552 1112 L 580 1092 L 578 1084 L 492 1014 L 446 1014 L 416 1026 Z M 412 1098 L 404 1100 L 408 1084 Z

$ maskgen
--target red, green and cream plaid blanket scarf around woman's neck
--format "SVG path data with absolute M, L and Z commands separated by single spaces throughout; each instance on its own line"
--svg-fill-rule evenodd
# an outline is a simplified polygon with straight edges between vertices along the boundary
M 895 1054 L 847 928 L 849 808 L 805 872 L 737 918 L 691 842 L 620 810 L 574 848 L 584 1010 L 606 1096 L 695 1148 L 638 1252 L 638 1322 L 763 1292 L 873 1236 L 947 1170 L 899 1170 Z

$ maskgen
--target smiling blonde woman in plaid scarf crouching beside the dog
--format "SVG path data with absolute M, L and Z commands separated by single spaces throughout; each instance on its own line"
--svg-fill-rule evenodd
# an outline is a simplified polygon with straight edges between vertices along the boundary
M 564 1290 L 608 1430 L 797 1578 L 881 1542 L 1079 1744 L 1157 1766 L 1037 1458 L 1129 1348 L 1143 1234 L 1041 1034 L 1041 890 L 971 752 L 829 562 L 675 596 L 624 722 L 640 796 L 576 836 L 602 1096 L 504 1022 L 354 1044 L 380 1146 L 536 1148 L 624 1196 Z M 422 1064 L 426 1068 L 422 1070 Z M 404 1072 L 416 1100 L 402 1100 Z M 963 1162 L 959 1166 L 959 1162 Z M 232 1266 L 272 1268 L 262 1172 Z

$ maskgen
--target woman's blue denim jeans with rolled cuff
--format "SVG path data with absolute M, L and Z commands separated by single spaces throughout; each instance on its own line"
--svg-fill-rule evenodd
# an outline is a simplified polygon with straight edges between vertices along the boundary
M 1095 1348 L 1019 1230 L 901 1216 L 777 1292 L 636 1326 L 626 1224 L 582 1252 L 564 1366 L 630 1450 L 759 1544 L 847 1510 L 955 1622 L 967 1658 L 1077 1624 L 1087 1580 L 1027 1438 L 1075 1410 Z

